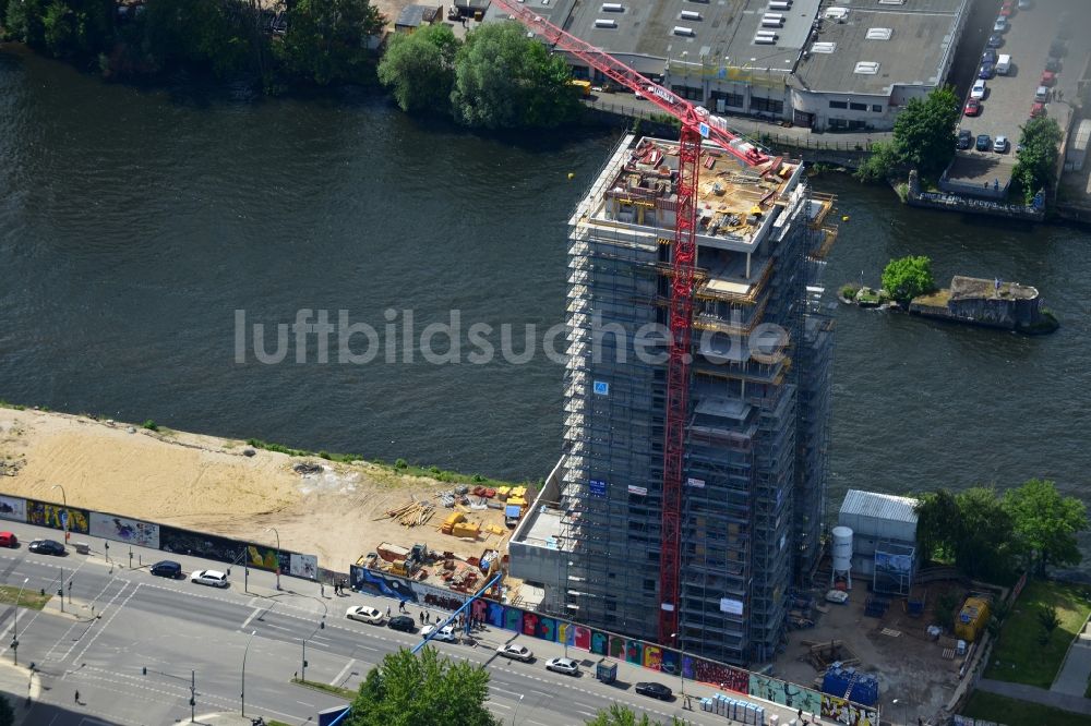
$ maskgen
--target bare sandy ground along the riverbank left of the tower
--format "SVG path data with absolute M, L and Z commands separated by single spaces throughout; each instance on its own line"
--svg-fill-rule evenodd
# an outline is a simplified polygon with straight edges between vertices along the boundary
M 84 416 L 0 409 L 0 493 L 60 501 L 124 517 L 249 540 L 268 541 L 275 525 L 286 549 L 316 554 L 321 567 L 347 572 L 381 542 L 464 557 L 485 547 L 506 553 L 509 531 L 495 509 L 467 510 L 469 521 L 504 529 L 477 542 L 441 534 L 451 510 L 437 506 L 415 528 L 383 519 L 417 499 L 436 503 L 452 484 L 403 476 L 367 462 L 332 463 L 259 449 L 247 457 L 243 441 L 175 431 L 151 432 Z M 300 475 L 292 465 L 320 463 Z

